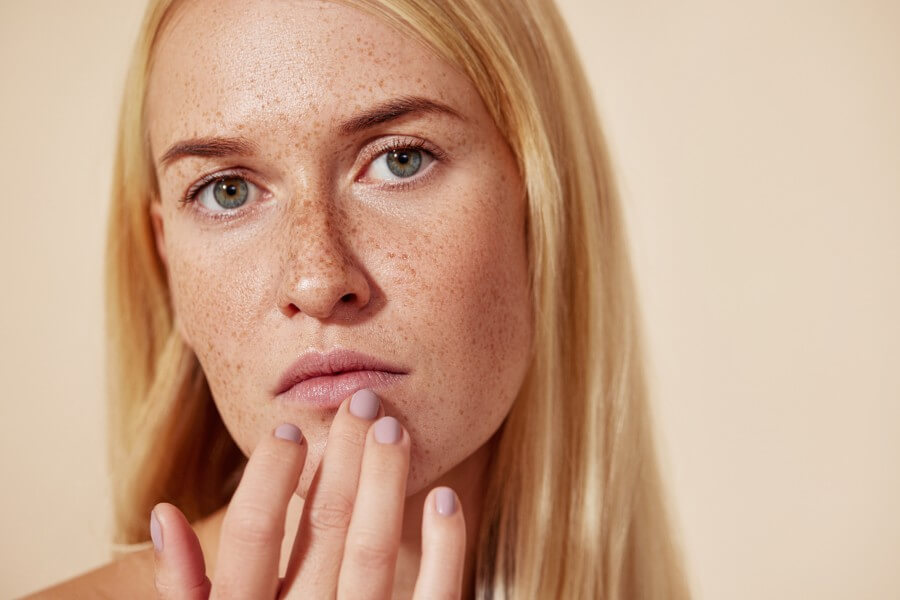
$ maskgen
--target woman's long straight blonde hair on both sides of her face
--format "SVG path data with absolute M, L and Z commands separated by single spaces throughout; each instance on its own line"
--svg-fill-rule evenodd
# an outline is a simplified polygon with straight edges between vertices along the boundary
M 688 598 L 653 444 L 640 314 L 592 95 L 549 0 L 342 0 L 415 35 L 477 88 L 520 168 L 535 351 L 504 422 L 482 515 L 476 597 Z M 176 0 L 151 0 L 126 84 L 108 237 L 117 541 L 161 500 L 196 519 L 245 460 L 176 332 L 149 207 L 143 118 Z M 515 4 L 515 6 L 512 6 Z

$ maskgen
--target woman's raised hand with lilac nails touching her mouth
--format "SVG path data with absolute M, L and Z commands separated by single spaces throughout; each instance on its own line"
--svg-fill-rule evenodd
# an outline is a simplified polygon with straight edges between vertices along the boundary
M 299 429 L 259 441 L 229 503 L 213 580 L 184 515 L 151 515 L 156 590 L 164 600 L 207 598 L 388 599 L 403 523 L 409 434 L 383 417 L 375 394 L 344 400 L 307 494 L 283 580 L 278 577 L 288 502 L 306 460 Z M 382 417 L 373 423 L 377 417 Z M 440 511 L 438 510 L 440 508 Z M 422 515 L 422 559 L 413 598 L 459 598 L 466 529 L 449 488 L 431 490 Z

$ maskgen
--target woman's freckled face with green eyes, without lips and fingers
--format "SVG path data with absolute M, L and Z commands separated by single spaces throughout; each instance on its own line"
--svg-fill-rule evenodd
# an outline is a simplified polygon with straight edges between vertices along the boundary
M 147 109 L 179 331 L 245 453 L 298 425 L 305 494 L 334 408 L 279 383 L 336 349 L 402 372 L 373 389 L 412 438 L 408 494 L 491 437 L 530 356 L 525 200 L 464 75 L 341 4 L 199 0 Z

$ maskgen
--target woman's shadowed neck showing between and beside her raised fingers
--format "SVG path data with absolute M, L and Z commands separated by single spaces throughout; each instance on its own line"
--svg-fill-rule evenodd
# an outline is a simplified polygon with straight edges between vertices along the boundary
M 481 525 L 481 514 L 485 493 L 487 492 L 487 476 L 491 456 L 494 453 L 497 436 L 481 446 L 474 454 L 439 477 L 421 491 L 408 496 L 403 510 L 403 533 L 397 553 L 397 566 L 394 571 L 394 598 L 412 598 L 416 578 L 419 573 L 419 562 L 422 557 L 422 514 L 425 497 L 437 486 L 448 486 L 456 492 L 466 519 L 466 561 L 463 570 L 462 597 L 474 597 L 475 586 L 475 552 L 478 543 L 478 532 Z M 206 571 L 210 579 L 215 571 L 215 559 L 218 553 L 219 533 L 227 506 L 222 507 L 209 517 L 194 525 L 203 554 L 206 558 Z M 303 499 L 294 496 L 288 505 L 285 519 L 285 536 L 281 547 L 280 574 L 284 574 L 294 537 L 303 511 Z

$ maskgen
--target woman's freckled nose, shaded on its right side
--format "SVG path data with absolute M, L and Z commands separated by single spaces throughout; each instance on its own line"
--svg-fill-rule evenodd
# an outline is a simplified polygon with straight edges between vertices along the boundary
M 309 203 L 298 208 L 301 214 L 284 234 L 288 252 L 279 308 L 288 317 L 303 313 L 319 320 L 353 320 L 369 304 L 368 278 L 331 211 Z

